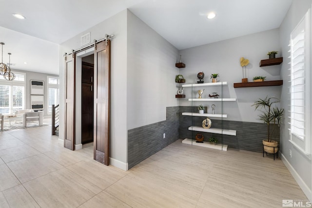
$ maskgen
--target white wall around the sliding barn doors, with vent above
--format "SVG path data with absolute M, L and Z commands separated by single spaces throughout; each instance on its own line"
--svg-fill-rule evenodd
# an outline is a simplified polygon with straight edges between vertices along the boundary
M 111 39 L 111 142 L 110 157 L 115 166 L 126 169 L 127 123 L 124 120 L 127 106 L 127 10 L 95 25 L 60 45 L 60 55 L 80 48 L 80 36 L 90 32 L 91 40 L 102 39 L 105 34 L 115 35 Z M 64 58 L 60 57 L 60 114 L 64 115 Z M 79 119 L 79 118 L 78 118 Z M 78 122 L 79 123 L 79 122 Z M 64 134 L 64 117 L 60 119 L 59 138 Z M 114 165 L 114 164 L 113 164 Z

